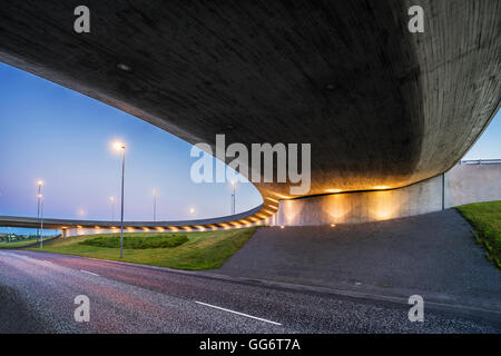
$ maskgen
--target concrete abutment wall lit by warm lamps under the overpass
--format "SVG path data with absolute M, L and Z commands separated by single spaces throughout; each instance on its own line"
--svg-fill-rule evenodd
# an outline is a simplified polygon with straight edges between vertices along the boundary
M 456 165 L 443 175 L 403 188 L 281 200 L 276 224 L 370 222 L 492 200 L 501 200 L 501 164 Z

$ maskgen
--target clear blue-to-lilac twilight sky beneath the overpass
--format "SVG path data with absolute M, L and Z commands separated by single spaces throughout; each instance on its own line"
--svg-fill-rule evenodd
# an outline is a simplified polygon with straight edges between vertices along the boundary
M 464 159 L 501 158 L 500 116 Z M 126 220 L 153 219 L 153 189 L 158 190 L 157 220 L 229 215 L 228 185 L 191 182 L 191 145 L 0 63 L 0 215 L 36 216 L 41 179 L 46 217 L 110 219 L 114 196 L 118 218 L 120 159 L 110 148 L 117 139 L 127 145 Z M 261 202 L 252 184 L 239 184 L 237 212 Z

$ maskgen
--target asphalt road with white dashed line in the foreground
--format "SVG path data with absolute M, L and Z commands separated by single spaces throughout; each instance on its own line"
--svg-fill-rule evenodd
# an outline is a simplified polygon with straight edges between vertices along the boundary
M 78 295 L 90 322 L 73 318 Z M 37 251 L 0 250 L 0 333 L 500 333 L 500 319 Z

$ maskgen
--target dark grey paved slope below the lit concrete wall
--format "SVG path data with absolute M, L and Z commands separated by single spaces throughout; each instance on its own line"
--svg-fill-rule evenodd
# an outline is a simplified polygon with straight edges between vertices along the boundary
M 334 228 L 261 228 L 217 273 L 501 310 L 501 273 L 453 209 Z

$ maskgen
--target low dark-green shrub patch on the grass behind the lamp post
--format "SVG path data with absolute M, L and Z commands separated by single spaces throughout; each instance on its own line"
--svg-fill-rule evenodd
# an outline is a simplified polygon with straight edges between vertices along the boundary
M 188 240 L 186 235 L 165 235 L 157 234 L 150 236 L 124 236 L 124 248 L 130 249 L 145 249 L 145 248 L 173 248 L 183 245 Z M 79 243 L 80 245 L 96 246 L 96 247 L 107 247 L 107 248 L 118 248 L 120 247 L 120 236 L 99 236 L 96 238 L 87 239 Z

